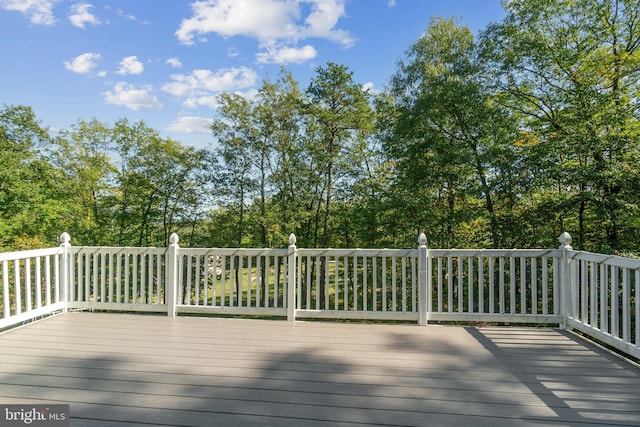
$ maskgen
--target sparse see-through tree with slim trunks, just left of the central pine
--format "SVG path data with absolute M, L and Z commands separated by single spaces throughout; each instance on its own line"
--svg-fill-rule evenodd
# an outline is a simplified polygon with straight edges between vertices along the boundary
M 236 221 L 227 221 L 233 241 L 283 245 L 293 232 L 301 244 L 317 244 L 322 157 L 314 145 L 316 124 L 303 120 L 298 83 L 283 69 L 275 82 L 263 82 L 255 98 L 222 94 L 219 103 L 212 125 L 221 164 L 219 203 L 235 212 Z

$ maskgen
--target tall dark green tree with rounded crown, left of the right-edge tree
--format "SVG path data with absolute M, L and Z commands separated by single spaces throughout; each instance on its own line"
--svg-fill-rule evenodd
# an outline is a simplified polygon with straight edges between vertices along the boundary
M 482 62 L 469 28 L 434 18 L 390 84 L 395 119 L 385 148 L 407 189 L 398 194 L 423 200 L 421 221 L 445 247 L 507 240 L 495 192 L 515 154 L 515 127 L 483 81 Z

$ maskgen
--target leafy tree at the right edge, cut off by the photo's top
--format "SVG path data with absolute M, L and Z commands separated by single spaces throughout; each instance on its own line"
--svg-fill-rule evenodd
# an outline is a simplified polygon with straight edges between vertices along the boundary
M 516 0 L 483 40 L 505 105 L 522 113 L 537 185 L 577 244 L 617 250 L 637 223 L 640 2 Z M 539 210 L 544 212 L 543 209 Z M 632 235 L 635 233 L 631 233 Z

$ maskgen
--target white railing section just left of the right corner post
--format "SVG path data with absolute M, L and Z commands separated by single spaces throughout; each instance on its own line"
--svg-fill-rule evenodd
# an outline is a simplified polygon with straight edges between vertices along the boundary
M 555 250 L 430 250 L 429 320 L 556 323 Z

